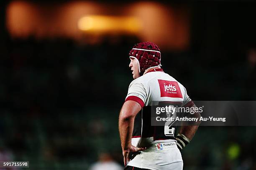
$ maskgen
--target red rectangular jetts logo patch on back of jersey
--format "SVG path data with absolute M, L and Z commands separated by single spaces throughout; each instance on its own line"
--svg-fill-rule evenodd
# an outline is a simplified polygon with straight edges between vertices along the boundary
M 178 82 L 158 80 L 161 97 L 177 97 L 182 98 L 182 93 L 180 91 Z

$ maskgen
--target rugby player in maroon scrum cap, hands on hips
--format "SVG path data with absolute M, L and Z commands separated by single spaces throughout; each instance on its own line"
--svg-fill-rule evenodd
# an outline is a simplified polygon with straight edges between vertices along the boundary
M 198 126 L 151 126 L 151 103 L 196 107 L 185 87 L 161 69 L 161 52 L 151 42 L 136 44 L 129 53 L 133 80 L 119 116 L 125 170 L 182 170 L 182 150 Z M 176 137 L 175 137 L 176 136 Z

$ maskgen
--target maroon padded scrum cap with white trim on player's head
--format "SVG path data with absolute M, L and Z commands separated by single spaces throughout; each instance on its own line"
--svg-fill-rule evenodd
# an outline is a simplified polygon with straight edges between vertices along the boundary
M 139 72 L 142 75 L 146 70 L 161 66 L 161 52 L 152 42 L 140 42 L 129 52 L 130 58 L 138 61 Z

